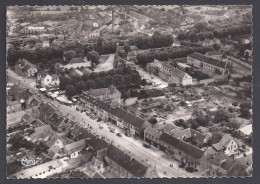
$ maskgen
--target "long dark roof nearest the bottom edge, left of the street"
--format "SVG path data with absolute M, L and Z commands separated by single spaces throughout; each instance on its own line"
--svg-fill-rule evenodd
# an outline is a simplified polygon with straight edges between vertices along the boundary
M 144 177 L 148 167 L 137 161 L 132 156 L 124 153 L 123 150 L 111 145 L 107 150 L 107 155 L 109 159 L 116 162 L 122 168 L 131 173 L 134 177 Z

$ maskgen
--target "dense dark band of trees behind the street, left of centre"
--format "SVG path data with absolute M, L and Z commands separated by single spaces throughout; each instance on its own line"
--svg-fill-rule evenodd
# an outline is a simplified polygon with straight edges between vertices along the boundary
M 107 88 L 113 85 L 120 91 L 127 91 L 131 88 L 139 88 L 142 84 L 139 73 L 129 67 L 107 72 L 93 72 L 82 77 L 61 75 L 59 79 L 60 89 L 65 90 L 69 98 L 90 89 Z

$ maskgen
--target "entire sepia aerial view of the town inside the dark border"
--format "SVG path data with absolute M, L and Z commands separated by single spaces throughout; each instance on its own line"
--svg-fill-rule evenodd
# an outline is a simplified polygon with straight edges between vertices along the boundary
M 252 176 L 252 6 L 6 12 L 9 179 Z

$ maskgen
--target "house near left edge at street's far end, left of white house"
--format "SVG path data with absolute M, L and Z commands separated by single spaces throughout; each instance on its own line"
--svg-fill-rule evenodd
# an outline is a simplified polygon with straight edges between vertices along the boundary
M 15 63 L 15 73 L 23 77 L 34 77 L 38 72 L 35 65 L 25 59 L 20 59 Z

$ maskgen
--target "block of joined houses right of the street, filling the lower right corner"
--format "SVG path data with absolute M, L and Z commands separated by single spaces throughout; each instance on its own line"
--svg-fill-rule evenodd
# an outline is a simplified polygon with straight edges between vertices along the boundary
M 144 140 L 168 153 L 184 167 L 196 171 L 209 171 L 210 176 L 248 176 L 244 164 L 232 157 L 239 149 L 239 143 L 232 137 L 225 137 L 219 143 L 206 147 L 208 135 L 187 128 L 182 129 L 169 124 L 163 128 L 148 127 L 144 130 Z

